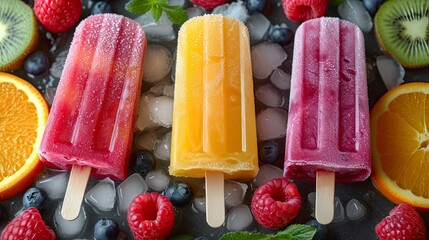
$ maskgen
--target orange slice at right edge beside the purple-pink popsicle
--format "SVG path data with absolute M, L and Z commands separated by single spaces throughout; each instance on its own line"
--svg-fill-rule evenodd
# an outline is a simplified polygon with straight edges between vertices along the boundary
M 392 202 L 429 210 L 429 83 L 388 91 L 371 110 L 371 179 Z

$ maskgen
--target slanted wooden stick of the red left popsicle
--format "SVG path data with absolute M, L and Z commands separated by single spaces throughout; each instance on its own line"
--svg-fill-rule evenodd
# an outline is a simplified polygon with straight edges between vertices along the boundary
M 91 167 L 73 165 L 61 207 L 61 216 L 65 220 L 71 221 L 79 216 L 90 173 Z

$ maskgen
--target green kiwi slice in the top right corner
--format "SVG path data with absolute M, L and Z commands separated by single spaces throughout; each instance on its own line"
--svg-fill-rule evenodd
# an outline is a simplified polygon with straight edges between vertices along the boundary
M 377 41 L 402 66 L 429 65 L 428 0 L 386 1 L 374 22 Z

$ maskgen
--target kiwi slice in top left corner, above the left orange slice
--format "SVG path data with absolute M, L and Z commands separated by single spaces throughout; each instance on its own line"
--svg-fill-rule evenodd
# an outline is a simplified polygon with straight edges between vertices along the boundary
M 18 69 L 37 45 L 37 20 L 33 9 L 20 0 L 0 4 L 0 71 Z

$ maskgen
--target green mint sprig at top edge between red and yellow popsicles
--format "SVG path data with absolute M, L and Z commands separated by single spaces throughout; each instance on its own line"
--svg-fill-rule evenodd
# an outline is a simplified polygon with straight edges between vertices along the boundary
M 134 14 L 145 14 L 151 11 L 155 21 L 159 21 L 163 11 L 172 23 L 181 25 L 188 20 L 186 11 L 180 6 L 168 5 L 168 0 L 131 0 L 125 5 L 125 9 Z

